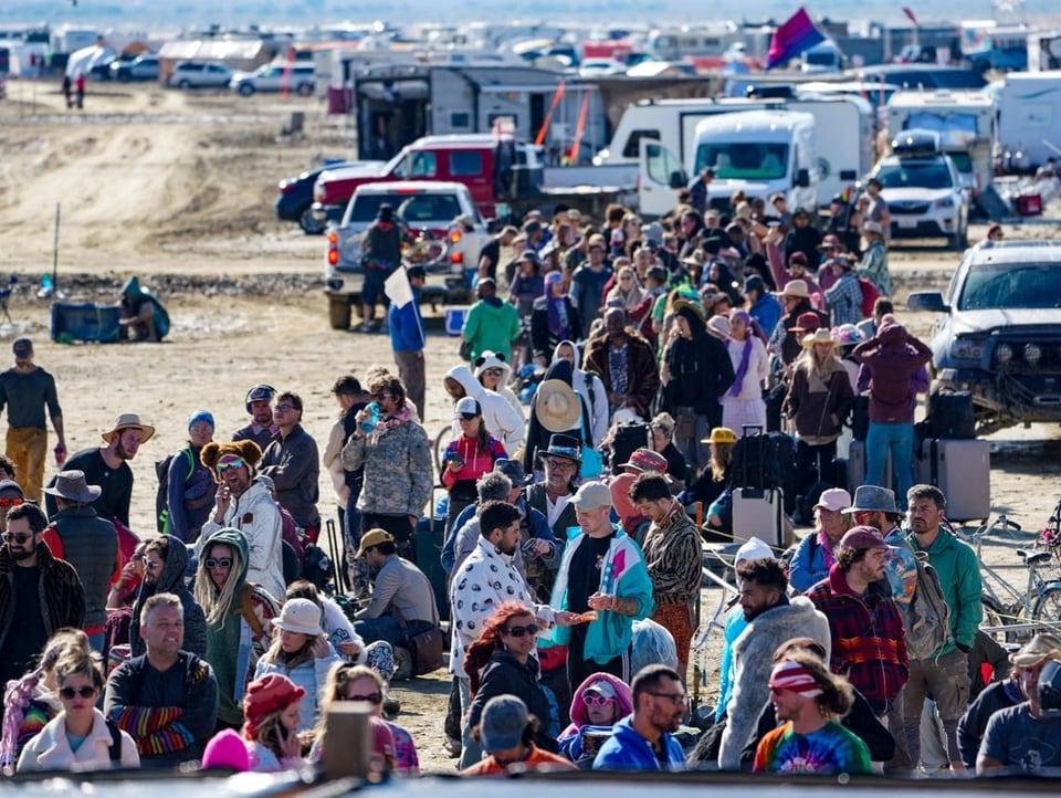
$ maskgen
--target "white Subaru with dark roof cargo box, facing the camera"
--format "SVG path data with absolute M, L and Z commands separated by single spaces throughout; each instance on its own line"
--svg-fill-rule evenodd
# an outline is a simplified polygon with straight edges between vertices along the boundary
M 892 144 L 871 178 L 892 214 L 892 238 L 947 239 L 958 252 L 969 245 L 969 190 L 934 132 L 907 132 Z

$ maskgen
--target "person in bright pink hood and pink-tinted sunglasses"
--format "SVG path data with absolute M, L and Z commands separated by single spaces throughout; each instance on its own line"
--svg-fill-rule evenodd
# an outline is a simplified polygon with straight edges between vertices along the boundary
M 630 685 L 610 673 L 593 673 L 578 685 L 571 699 L 571 724 L 557 743 L 560 754 L 581 768 L 590 768 L 611 727 L 633 712 Z

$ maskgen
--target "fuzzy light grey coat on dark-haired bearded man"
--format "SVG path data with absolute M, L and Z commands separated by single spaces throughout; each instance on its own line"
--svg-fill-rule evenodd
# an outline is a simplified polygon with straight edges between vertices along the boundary
M 770 697 L 770 671 L 774 652 L 792 638 L 811 638 L 831 654 L 829 620 L 806 596 L 781 602 L 748 623 L 733 644 L 733 697 L 727 706 L 728 722 L 722 733 L 718 767 L 736 770 L 740 752 L 755 733 L 759 714 Z

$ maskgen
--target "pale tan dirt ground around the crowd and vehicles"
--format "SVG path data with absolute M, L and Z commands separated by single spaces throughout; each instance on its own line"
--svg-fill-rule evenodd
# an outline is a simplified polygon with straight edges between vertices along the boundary
M 284 138 L 280 132 L 296 111 L 306 113 L 305 135 Z M 305 402 L 303 423 L 323 448 L 336 417 L 334 380 L 391 363 L 386 337 L 328 328 L 323 239 L 277 221 L 272 207 L 277 180 L 323 156 L 353 155 L 351 144 L 350 129 L 325 117 L 314 99 L 90 83 L 78 113 L 63 107 L 56 84 L 9 83 L 8 99 L 0 101 L 0 273 L 19 282 L 0 346 L 21 334 L 33 337 L 38 361 L 56 376 L 72 452 L 99 444 L 99 432 L 120 412 L 156 424 L 156 437 L 132 463 L 134 528 L 154 529 L 154 461 L 182 444 L 193 410 L 211 410 L 224 439 L 245 423 L 250 386 L 294 389 Z M 172 317 L 166 343 L 49 339 L 50 302 L 35 292 L 53 265 L 56 203 L 60 288 L 70 301 L 116 302 L 129 275 L 161 286 Z M 983 229 L 973 232 L 983 235 Z M 1043 229 L 1009 233 L 1030 238 Z M 944 287 L 956 261 L 938 248 L 903 248 L 890 262 L 903 296 L 912 287 Z M 932 319 L 907 321 L 926 334 Z M 4 357 L 0 353 L 0 363 Z M 453 339 L 430 338 L 424 416 L 431 435 L 449 418 L 441 381 L 456 359 Z M 1007 430 L 990 441 L 992 508 L 1026 529 L 1041 528 L 1058 500 L 1058 430 Z M 327 516 L 334 501 L 325 475 L 321 494 Z M 1010 560 L 1009 548 L 991 556 Z M 705 597 L 710 615 L 717 591 Z M 713 633 L 702 691 L 707 702 L 717 683 L 717 648 Z M 447 691 L 441 673 L 396 690 L 399 721 L 429 770 L 452 768 L 441 749 Z

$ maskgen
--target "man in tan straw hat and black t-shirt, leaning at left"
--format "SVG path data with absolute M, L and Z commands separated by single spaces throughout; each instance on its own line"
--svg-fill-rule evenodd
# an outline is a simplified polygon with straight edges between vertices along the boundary
M 92 507 L 101 518 L 117 518 L 128 528 L 129 502 L 133 498 L 133 469 L 128 461 L 154 434 L 155 428 L 143 423 L 136 413 L 122 413 L 114 427 L 103 433 L 105 447 L 84 449 L 66 461 L 66 471 L 82 471 L 90 485 L 99 486 L 99 496 L 92 502 Z M 54 476 L 48 486 L 55 486 Z M 57 512 L 55 500 L 51 495 L 44 498 L 51 517 Z

